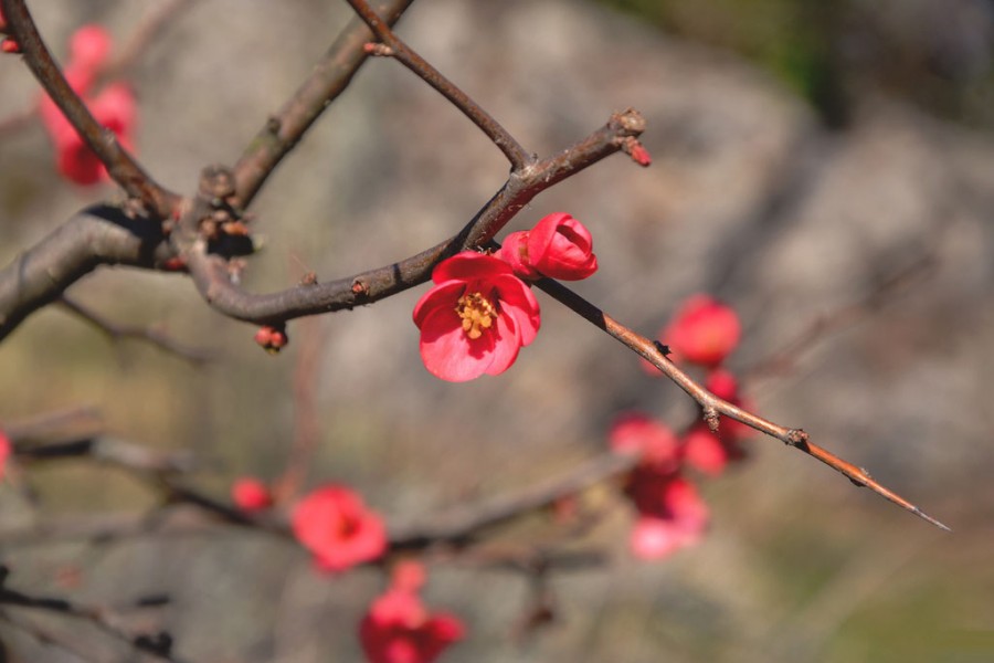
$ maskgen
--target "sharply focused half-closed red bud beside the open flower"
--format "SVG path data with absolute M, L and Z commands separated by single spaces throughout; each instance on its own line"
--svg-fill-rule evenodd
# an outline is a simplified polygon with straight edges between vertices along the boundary
M 530 231 L 510 233 L 498 256 L 521 278 L 580 281 L 598 271 L 592 249 L 590 231 L 565 212 L 556 212 Z

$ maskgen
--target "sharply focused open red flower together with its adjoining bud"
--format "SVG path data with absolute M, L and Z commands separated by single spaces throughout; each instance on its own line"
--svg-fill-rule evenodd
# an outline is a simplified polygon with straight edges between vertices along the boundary
M 557 212 L 511 233 L 495 255 L 464 251 L 438 263 L 435 285 L 414 307 L 425 368 L 451 382 L 510 368 L 541 325 L 529 282 L 590 276 L 598 269 L 592 249 L 586 228 Z

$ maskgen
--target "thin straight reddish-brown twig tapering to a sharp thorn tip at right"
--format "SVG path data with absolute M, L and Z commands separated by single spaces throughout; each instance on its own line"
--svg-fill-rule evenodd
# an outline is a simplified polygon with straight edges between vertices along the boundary
M 844 461 L 833 453 L 816 445 L 814 442 L 811 442 L 811 440 L 808 439 L 808 434 L 803 430 L 779 425 L 776 423 L 773 423 L 772 421 L 768 421 L 762 417 L 752 414 L 751 412 L 748 412 L 739 408 L 738 406 L 718 398 L 717 396 L 695 382 L 694 379 L 690 378 L 690 376 L 680 370 L 679 367 L 670 361 L 667 358 L 666 352 L 664 351 L 665 347 L 663 347 L 662 344 L 659 344 L 658 341 L 652 341 L 648 338 L 641 336 L 639 334 L 625 327 L 573 291 L 567 288 L 561 283 L 558 283 L 550 278 L 544 278 L 542 281 L 539 281 L 536 285 L 547 294 L 552 296 L 554 299 L 564 304 L 571 311 L 575 312 L 594 326 L 603 329 L 616 340 L 621 341 L 625 347 L 630 348 L 646 361 L 663 371 L 663 373 L 667 378 L 676 382 L 676 385 L 680 389 L 687 392 L 690 398 L 692 398 L 700 404 L 700 407 L 704 409 L 705 418 L 712 430 L 715 429 L 715 427 L 717 427 L 717 420 L 719 415 L 725 415 L 729 419 L 733 419 L 736 421 L 744 423 L 745 425 L 749 425 L 750 428 L 753 428 L 761 433 L 765 433 L 772 438 L 776 438 L 781 442 L 822 461 L 836 472 L 845 475 L 857 486 L 868 487 L 878 495 L 911 512 L 916 516 L 931 523 L 932 525 L 947 532 L 950 530 L 949 527 L 947 527 L 935 518 L 929 516 L 912 503 L 908 502 L 900 495 L 879 484 L 869 475 L 869 472 L 867 472 L 865 469 L 858 467 L 847 461 Z

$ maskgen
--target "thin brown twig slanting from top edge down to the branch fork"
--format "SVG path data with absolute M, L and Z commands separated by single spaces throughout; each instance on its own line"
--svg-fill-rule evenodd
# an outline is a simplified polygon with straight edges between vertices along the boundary
M 431 85 L 436 92 L 450 101 L 450 103 L 458 108 L 463 115 L 468 117 L 479 130 L 496 145 L 507 160 L 510 161 L 511 170 L 521 170 L 526 168 L 532 160 L 532 157 L 525 150 L 518 140 L 511 136 L 507 129 L 494 119 L 489 113 L 474 102 L 469 95 L 459 90 L 448 78 L 434 66 L 429 64 L 421 55 L 414 52 L 408 44 L 401 41 L 385 21 L 381 20 L 366 0 L 347 0 L 356 13 L 366 21 L 370 30 L 376 33 L 379 39 L 389 49 L 389 53 L 398 62 L 417 74 L 425 83 Z

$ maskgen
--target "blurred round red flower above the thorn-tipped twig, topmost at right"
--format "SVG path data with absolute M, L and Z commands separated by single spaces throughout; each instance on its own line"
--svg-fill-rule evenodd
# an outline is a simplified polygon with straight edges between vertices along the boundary
M 660 338 L 669 346 L 674 361 L 715 367 L 736 349 L 741 334 L 739 316 L 732 308 L 708 295 L 694 295 L 684 302 Z

